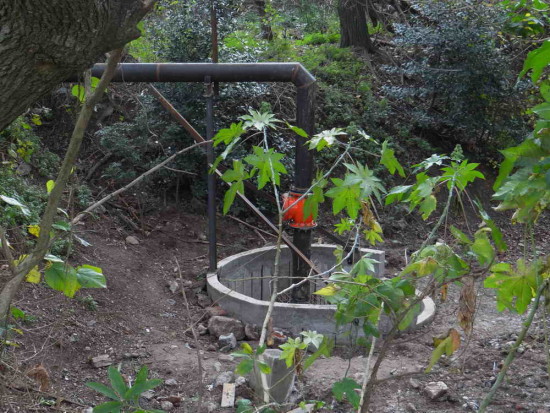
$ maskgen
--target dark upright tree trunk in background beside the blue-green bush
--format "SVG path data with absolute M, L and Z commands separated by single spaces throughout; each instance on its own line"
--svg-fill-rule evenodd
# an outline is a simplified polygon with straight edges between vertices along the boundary
M 367 30 L 367 5 L 365 0 L 339 0 L 340 47 L 356 47 L 375 53 L 376 49 Z

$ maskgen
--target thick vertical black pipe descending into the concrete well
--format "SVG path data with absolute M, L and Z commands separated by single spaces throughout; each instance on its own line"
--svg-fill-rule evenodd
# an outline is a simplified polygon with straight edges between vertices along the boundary
M 297 126 L 312 136 L 315 131 L 315 84 L 306 84 L 297 87 L 296 96 L 296 123 Z M 308 150 L 306 139 L 296 137 L 294 188 L 296 192 L 305 192 L 313 179 L 313 152 Z M 311 257 L 311 230 L 295 229 L 293 243 L 307 257 Z M 305 278 L 309 275 L 309 266 L 305 264 L 296 254 L 292 255 L 292 276 L 293 282 L 298 278 Z M 309 283 L 292 290 L 293 302 L 306 302 L 309 300 Z

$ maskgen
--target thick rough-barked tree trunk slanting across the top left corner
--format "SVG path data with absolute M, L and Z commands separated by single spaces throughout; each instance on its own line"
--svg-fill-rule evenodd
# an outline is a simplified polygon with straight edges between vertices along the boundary
M 0 130 L 70 75 L 139 37 L 152 0 L 0 0 Z

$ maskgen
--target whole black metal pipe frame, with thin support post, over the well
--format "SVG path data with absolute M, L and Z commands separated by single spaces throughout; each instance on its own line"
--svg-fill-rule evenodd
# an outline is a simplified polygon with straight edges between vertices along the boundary
M 105 71 L 105 64 L 98 63 L 92 67 L 92 76 L 101 77 Z M 290 82 L 296 86 L 296 124 L 307 132 L 314 134 L 315 127 L 315 77 L 300 63 L 121 63 L 116 69 L 112 82 Z M 67 81 L 78 81 L 73 76 Z M 212 130 L 212 102 L 208 101 L 208 138 Z M 209 125 L 208 125 L 209 124 Z M 297 138 L 295 153 L 294 187 L 296 191 L 303 191 L 311 186 L 313 179 L 313 152 L 309 151 L 306 142 Z M 212 155 L 210 155 L 212 156 Z M 213 183 L 209 182 L 209 197 Z M 215 240 L 215 208 L 209 202 L 208 214 L 210 229 L 209 257 L 210 267 L 216 266 Z M 213 217 L 211 216 L 213 214 Z M 295 230 L 293 242 L 307 258 L 311 257 L 311 231 Z M 310 268 L 303 260 L 294 254 L 293 276 L 305 278 Z M 297 302 L 307 299 L 309 287 L 304 283 L 303 288 L 295 289 L 293 300 Z

